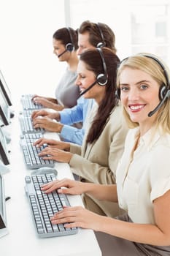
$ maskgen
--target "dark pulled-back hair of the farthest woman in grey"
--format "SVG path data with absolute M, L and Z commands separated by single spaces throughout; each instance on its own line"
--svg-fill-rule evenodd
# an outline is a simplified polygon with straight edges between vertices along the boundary
M 74 50 L 78 49 L 78 35 L 77 30 L 74 30 L 69 27 L 62 28 L 55 31 L 53 34 L 53 39 L 60 40 L 63 45 L 72 43 L 74 45 Z

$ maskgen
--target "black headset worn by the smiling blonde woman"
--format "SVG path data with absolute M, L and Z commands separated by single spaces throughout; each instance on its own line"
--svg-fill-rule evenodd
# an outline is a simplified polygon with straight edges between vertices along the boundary
M 152 116 L 159 108 L 161 108 L 161 106 L 166 101 L 166 99 L 170 98 L 170 81 L 169 81 L 169 75 L 166 72 L 166 68 L 161 63 L 161 61 L 159 61 L 157 58 L 155 58 L 155 56 L 150 56 L 150 55 L 145 55 L 145 54 L 143 56 L 147 57 L 147 58 L 150 58 L 150 59 L 153 59 L 161 67 L 161 69 L 163 70 L 163 74 L 166 78 L 166 84 L 163 83 L 160 86 L 160 89 L 159 89 L 160 102 L 159 102 L 158 106 L 154 110 L 150 111 L 150 113 L 148 113 L 148 116 Z M 123 61 L 125 61 L 126 59 L 128 59 L 128 58 L 123 59 Z M 120 64 L 123 61 L 121 61 Z M 120 99 L 120 88 L 117 88 L 117 90 L 115 92 L 115 96 L 117 97 L 117 99 Z

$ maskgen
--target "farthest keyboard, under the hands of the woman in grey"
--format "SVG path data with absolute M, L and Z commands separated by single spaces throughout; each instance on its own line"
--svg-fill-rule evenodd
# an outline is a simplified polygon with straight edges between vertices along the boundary
M 21 103 L 23 105 L 24 110 L 39 110 L 42 109 L 43 106 L 40 104 L 36 104 L 32 101 L 32 98 L 34 97 L 33 94 L 23 94 L 21 97 Z

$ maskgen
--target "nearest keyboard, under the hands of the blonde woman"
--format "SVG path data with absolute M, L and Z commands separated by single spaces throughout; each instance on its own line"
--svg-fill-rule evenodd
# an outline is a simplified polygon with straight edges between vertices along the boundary
M 52 236 L 66 236 L 77 233 L 77 227 L 66 228 L 63 224 L 53 225 L 50 217 L 61 211 L 63 206 L 70 206 L 68 197 L 58 194 L 57 191 L 45 194 L 42 192 L 42 184 L 55 180 L 55 175 L 38 174 L 26 176 L 26 194 L 28 195 L 31 212 L 36 227 L 36 233 L 40 238 Z

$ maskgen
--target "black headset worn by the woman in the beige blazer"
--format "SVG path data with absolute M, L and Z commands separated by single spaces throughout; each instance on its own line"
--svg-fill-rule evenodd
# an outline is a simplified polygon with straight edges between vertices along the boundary
M 98 50 L 98 53 L 101 56 L 101 61 L 102 61 L 102 65 L 103 65 L 103 69 L 104 69 L 104 73 L 100 73 L 97 75 L 95 82 L 93 82 L 90 86 L 88 86 L 87 89 L 85 89 L 84 91 L 82 91 L 80 93 L 80 95 L 82 96 L 83 94 L 85 94 L 87 91 L 89 91 L 93 86 L 96 85 L 96 83 L 98 83 L 99 86 L 105 86 L 107 84 L 107 65 L 106 62 L 104 60 L 104 53 L 102 52 L 101 48 L 96 48 L 96 50 Z

